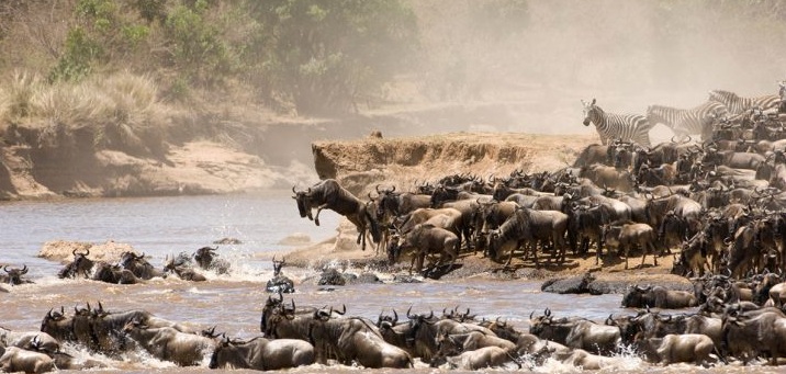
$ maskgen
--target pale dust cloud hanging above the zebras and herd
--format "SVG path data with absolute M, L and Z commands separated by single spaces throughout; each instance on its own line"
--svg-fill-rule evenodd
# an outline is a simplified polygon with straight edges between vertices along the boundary
M 643 114 L 650 104 L 696 106 L 714 89 L 777 93 L 786 78 L 777 1 L 411 3 L 433 95 L 508 103 L 515 120 L 501 131 L 588 134 L 581 99 Z

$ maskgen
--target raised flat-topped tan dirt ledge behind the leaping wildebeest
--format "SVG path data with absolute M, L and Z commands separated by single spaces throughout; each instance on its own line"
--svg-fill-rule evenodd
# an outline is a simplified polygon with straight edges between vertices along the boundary
M 321 140 L 312 144 L 312 151 L 319 179 L 337 179 L 356 195 L 364 196 L 377 184 L 402 191 L 457 173 L 486 179 L 514 170 L 554 171 L 572 165 L 595 140 L 584 135 L 449 133 Z

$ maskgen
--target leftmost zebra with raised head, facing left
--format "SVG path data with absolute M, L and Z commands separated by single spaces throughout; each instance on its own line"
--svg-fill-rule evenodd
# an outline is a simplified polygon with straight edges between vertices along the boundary
M 606 113 L 595 105 L 595 99 L 592 100 L 592 103 L 582 100 L 582 104 L 584 104 L 584 126 L 590 126 L 590 123 L 595 124 L 595 129 L 604 146 L 608 144 L 609 139 L 633 141 L 642 147 L 650 146 L 650 129 L 653 124 L 647 121 L 645 116 Z

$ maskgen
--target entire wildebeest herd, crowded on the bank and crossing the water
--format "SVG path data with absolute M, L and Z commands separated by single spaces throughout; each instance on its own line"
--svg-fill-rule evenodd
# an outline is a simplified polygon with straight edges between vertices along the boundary
M 53 307 L 37 331 L 0 328 L 0 370 L 40 373 L 104 365 L 75 360 L 64 343 L 105 356 L 144 350 L 177 365 L 211 369 L 280 370 L 332 362 L 369 369 L 406 369 L 418 362 L 460 370 L 531 369 L 555 361 L 594 370 L 622 367 L 625 352 L 662 364 L 777 364 L 786 356 L 784 89 L 782 84 L 775 111 L 738 111 L 737 102 L 701 105 L 712 107 L 700 117 L 708 128 L 694 133 L 687 124 L 695 113 L 685 114 L 678 118 L 687 127 L 675 127 L 672 141 L 654 147 L 618 132 L 554 172 L 517 170 L 486 179 L 454 174 L 409 192 L 377 185 L 368 201 L 336 180 L 293 188 L 302 217 L 318 225 L 319 212 L 333 209 L 355 224 L 362 248 L 370 234 L 391 263 L 408 257 L 411 271 L 425 265 L 426 276 L 450 272 L 468 253 L 506 267 L 540 267 L 543 258 L 562 263 L 568 251 L 574 257 L 594 251 L 598 264 L 620 257 L 626 269 L 631 256 L 642 256 L 639 265 L 648 254 L 655 263 L 658 257 L 673 256 L 673 273 L 689 277 L 693 292 L 631 285 L 621 306 L 636 308 L 632 313 L 596 321 L 554 316 L 547 308 L 530 314 L 528 331 L 458 308 L 443 309 L 441 316 L 409 309 L 400 319 L 386 306 L 391 314 L 373 320 L 347 315 L 346 306 L 285 302 L 282 293 L 294 291 L 294 284 L 281 274 L 284 261 L 273 259 L 276 276 L 268 288 L 278 294 L 265 302 L 259 337 L 240 340 L 146 310 L 115 311 L 86 303 L 72 311 Z M 593 106 L 595 101 L 585 109 Z M 667 117 L 663 110 L 649 112 L 661 120 L 653 114 L 645 121 Z M 585 123 L 598 118 L 593 116 Z M 700 143 L 692 141 L 695 135 Z M 317 208 L 314 216 L 312 208 Z M 124 253 L 117 263 L 91 261 L 89 251 L 72 254 L 60 277 L 135 283 L 176 274 L 204 281 L 200 270 L 229 271 L 210 247 L 167 259 L 161 270 L 144 254 Z M 26 267 L 3 270 L 4 283 L 30 282 Z M 664 311 L 681 308 L 694 309 Z

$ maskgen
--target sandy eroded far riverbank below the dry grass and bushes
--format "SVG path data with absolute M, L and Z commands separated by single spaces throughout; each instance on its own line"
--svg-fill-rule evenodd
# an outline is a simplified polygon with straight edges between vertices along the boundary
M 108 143 L 109 135 L 89 128 L 0 125 L 0 200 L 290 189 L 317 181 L 316 140 L 364 138 L 374 131 L 385 138 L 505 131 L 520 123 L 516 102 L 389 105 L 334 118 L 216 111 L 178 113 L 150 134 L 114 134 L 125 143 Z

